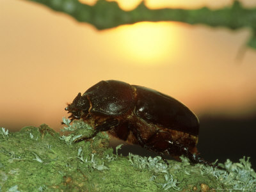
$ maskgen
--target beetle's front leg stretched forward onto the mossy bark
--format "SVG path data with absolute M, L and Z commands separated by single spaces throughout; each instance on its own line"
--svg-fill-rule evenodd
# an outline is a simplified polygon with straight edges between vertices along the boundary
M 91 136 L 81 136 L 80 138 L 77 138 L 76 140 L 73 141 L 73 143 L 78 143 L 83 140 L 90 140 L 94 138 L 98 132 L 100 131 L 109 131 L 109 129 L 112 129 L 113 127 L 116 127 L 119 124 L 119 121 L 117 119 L 109 119 L 106 120 L 103 124 L 97 125 L 95 127 L 95 132 Z

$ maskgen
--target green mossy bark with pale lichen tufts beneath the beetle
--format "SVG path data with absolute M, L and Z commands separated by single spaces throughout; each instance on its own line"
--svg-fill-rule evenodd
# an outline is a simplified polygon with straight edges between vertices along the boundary
M 90 136 L 93 129 L 83 121 L 70 125 L 66 120 L 66 124 L 62 136 L 45 124 L 24 127 L 19 132 L 0 129 L 0 191 L 256 188 L 256 173 L 249 159 L 240 159 L 240 163 L 228 160 L 222 164 L 227 172 L 203 164 L 191 165 L 186 158 L 182 163 L 170 160 L 167 166 L 161 157 L 116 156 L 104 132 L 72 144 L 79 135 Z

